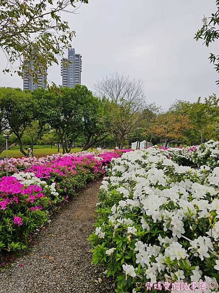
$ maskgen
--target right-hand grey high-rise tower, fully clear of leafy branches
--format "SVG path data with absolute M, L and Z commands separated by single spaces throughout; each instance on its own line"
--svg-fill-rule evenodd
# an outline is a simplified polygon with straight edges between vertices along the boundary
M 63 87 L 74 87 L 81 84 L 82 56 L 75 54 L 73 48 L 68 49 L 68 58 L 63 58 L 61 63 L 61 76 Z

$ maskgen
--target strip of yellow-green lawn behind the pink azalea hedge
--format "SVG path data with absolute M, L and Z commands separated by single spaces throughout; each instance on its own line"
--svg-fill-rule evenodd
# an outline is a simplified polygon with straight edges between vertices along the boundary
M 91 150 L 91 149 L 89 149 Z M 93 150 L 96 150 L 96 148 L 93 148 Z M 81 151 L 81 148 L 76 147 L 71 150 L 72 152 L 79 152 Z M 44 147 L 44 148 L 34 148 L 34 156 L 36 157 L 42 157 L 42 156 L 47 156 L 47 155 L 52 155 L 52 154 L 57 154 L 58 148 L 57 147 Z M 60 148 L 60 152 L 62 152 L 62 148 Z M 6 151 L 3 151 L 0 154 L 0 157 L 6 157 Z M 9 149 L 8 150 L 8 157 L 24 157 L 24 155 L 19 151 L 19 149 Z

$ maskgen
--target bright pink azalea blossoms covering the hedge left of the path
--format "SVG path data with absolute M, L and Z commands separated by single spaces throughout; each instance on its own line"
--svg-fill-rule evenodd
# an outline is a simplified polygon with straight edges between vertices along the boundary
M 9 165 L 11 171 L 19 171 L 18 167 L 25 166 L 25 169 L 22 171 L 33 172 L 37 178 L 45 178 L 47 180 L 47 178 L 55 177 L 55 181 L 58 178 L 56 188 L 60 188 L 60 185 L 62 185 L 63 194 L 60 194 L 60 197 L 63 196 L 65 202 L 69 197 L 65 193 L 68 192 L 66 191 L 65 184 L 70 183 L 71 178 L 79 170 L 85 173 L 91 172 L 95 176 L 90 177 L 96 178 L 99 174 L 104 173 L 104 165 L 108 165 L 112 158 L 118 158 L 126 151 L 129 150 L 104 151 L 100 153 L 81 152 L 76 154 L 52 155 L 39 159 L 12 158 L 9 160 Z M 4 163 L 0 163 L 0 167 L 2 166 L 4 167 Z M 78 177 L 79 180 L 80 176 Z M 46 208 L 44 206 L 44 199 L 42 198 L 46 197 L 44 191 L 47 189 L 43 189 L 44 187 L 42 188 L 36 183 L 28 185 L 23 182 L 25 181 L 18 180 L 13 176 L 3 176 L 0 178 L 0 213 L 9 212 L 13 223 L 18 226 L 23 224 L 21 216 L 17 215 L 18 212 L 22 215 L 28 211 L 43 210 Z M 74 188 L 71 184 L 70 187 Z M 51 201 L 45 199 L 45 203 L 50 204 Z

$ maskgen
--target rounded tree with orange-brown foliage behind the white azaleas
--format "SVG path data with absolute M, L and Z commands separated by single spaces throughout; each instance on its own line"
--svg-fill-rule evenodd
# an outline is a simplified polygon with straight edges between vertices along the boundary
M 185 131 L 192 128 L 187 115 L 166 112 L 158 115 L 150 127 L 150 132 L 165 140 L 165 146 L 171 140 L 185 139 Z

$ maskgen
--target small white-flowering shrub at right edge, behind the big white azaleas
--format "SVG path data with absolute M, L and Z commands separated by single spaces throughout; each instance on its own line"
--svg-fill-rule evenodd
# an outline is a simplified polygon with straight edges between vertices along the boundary
M 219 141 L 213 140 L 201 144 L 192 152 L 192 160 L 198 166 L 219 167 Z

